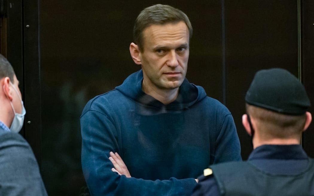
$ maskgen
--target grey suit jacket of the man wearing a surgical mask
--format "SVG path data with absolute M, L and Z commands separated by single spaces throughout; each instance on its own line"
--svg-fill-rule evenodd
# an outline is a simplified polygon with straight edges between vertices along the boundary
M 34 153 L 17 133 L 0 127 L 0 195 L 47 195 Z

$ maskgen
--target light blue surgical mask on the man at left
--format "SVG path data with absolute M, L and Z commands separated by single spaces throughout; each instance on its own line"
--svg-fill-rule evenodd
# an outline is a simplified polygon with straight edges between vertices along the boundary
M 12 84 L 12 82 L 10 82 L 10 84 L 11 84 L 11 86 L 14 88 L 15 92 L 19 96 L 19 92 L 17 91 L 15 86 Z M 12 107 L 13 112 L 14 112 L 14 119 L 12 121 L 12 124 L 11 124 L 11 127 L 10 127 L 10 131 L 15 132 L 15 133 L 18 133 L 22 129 L 23 123 L 24 123 L 24 116 L 26 114 L 26 110 L 24 108 L 24 104 L 23 104 L 22 98 L 20 96 L 19 96 L 19 98 L 20 98 L 21 103 L 22 103 L 22 114 L 19 114 L 19 113 L 15 112 L 13 103 L 10 101 L 11 107 Z

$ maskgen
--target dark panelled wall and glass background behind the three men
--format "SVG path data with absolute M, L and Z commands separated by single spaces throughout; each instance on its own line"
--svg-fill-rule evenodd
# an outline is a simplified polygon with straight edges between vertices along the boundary
M 7 40 L 4 52 L 21 82 L 27 110 L 21 134 L 32 146 L 52 196 L 84 195 L 80 114 L 89 99 L 140 69 L 129 53 L 133 24 L 153 4 L 172 5 L 189 17 L 194 32 L 187 79 L 230 110 L 244 160 L 252 147 L 241 116 L 257 70 L 288 69 L 304 83 L 314 104 L 311 0 L 4 2 L 2 31 L 7 35 L 1 39 Z M 313 126 L 302 136 L 311 157 Z

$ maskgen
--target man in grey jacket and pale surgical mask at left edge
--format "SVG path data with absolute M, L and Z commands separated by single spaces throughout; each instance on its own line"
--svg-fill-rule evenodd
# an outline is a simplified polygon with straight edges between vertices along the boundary
M 19 81 L 0 55 L 0 195 L 47 195 L 34 153 L 18 134 L 25 114 Z

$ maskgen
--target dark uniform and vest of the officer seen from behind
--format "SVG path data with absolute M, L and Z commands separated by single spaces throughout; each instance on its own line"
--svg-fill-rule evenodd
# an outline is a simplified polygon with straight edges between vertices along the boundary
M 314 160 L 300 145 L 259 146 L 246 162 L 210 168 L 199 177 L 194 196 L 314 195 Z

